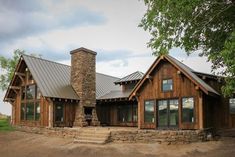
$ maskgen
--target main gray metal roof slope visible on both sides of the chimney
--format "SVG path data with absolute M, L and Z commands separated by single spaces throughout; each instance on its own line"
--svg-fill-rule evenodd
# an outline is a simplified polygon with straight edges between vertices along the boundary
M 70 66 L 23 55 L 23 59 L 32 73 L 42 95 L 45 97 L 79 99 L 70 84 Z M 96 98 L 111 90 L 121 90 L 113 82 L 119 78 L 96 73 Z

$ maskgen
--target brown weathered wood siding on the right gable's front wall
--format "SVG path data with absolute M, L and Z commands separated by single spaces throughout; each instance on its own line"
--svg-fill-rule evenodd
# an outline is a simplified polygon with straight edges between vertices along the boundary
M 139 95 L 139 127 L 140 128 L 157 128 L 157 100 L 159 99 L 178 99 L 179 100 L 179 128 L 180 129 L 199 129 L 199 98 L 202 99 L 202 93 L 200 89 L 196 89 L 195 84 L 190 81 L 182 73 L 177 74 L 176 69 L 169 62 L 161 61 L 159 66 L 153 70 L 151 76 L 152 80 L 144 82 L 143 86 L 137 93 Z M 169 92 L 162 91 L 162 80 L 172 79 L 173 90 Z M 181 109 L 182 109 L 182 98 L 193 97 L 194 98 L 194 123 L 182 123 Z M 144 122 L 144 101 L 145 100 L 156 100 L 155 103 L 155 123 Z M 202 105 L 202 104 L 200 104 Z M 202 123 L 202 120 L 200 120 Z M 203 125 L 203 124 L 200 124 Z

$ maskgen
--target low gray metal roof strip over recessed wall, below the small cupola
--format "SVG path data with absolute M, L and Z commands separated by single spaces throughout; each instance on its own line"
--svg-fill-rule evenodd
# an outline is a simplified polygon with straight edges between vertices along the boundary
M 115 98 L 128 98 L 131 91 L 110 91 L 109 93 L 105 94 L 104 96 L 101 96 L 99 100 L 102 99 L 115 99 Z

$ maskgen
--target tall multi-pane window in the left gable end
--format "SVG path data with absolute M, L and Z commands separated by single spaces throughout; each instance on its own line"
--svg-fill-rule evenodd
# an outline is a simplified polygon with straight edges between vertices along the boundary
M 35 85 L 26 85 L 21 88 L 21 120 L 40 119 L 40 90 Z

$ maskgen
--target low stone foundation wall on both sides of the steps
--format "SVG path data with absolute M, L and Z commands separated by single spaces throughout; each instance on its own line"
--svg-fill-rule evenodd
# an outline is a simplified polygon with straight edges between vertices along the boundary
M 76 139 L 81 128 L 39 128 L 16 126 L 19 131 Z M 111 130 L 110 142 L 187 144 L 207 141 L 208 130 Z

